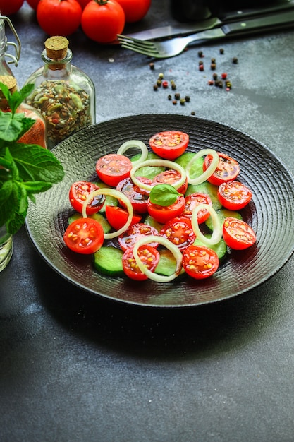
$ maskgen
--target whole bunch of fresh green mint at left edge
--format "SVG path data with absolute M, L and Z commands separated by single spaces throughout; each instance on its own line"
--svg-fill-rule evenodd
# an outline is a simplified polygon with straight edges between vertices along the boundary
M 63 166 L 50 150 L 36 144 L 18 143 L 35 124 L 33 119 L 16 110 L 30 94 L 33 85 L 11 92 L 0 88 L 11 112 L 0 110 L 0 226 L 15 234 L 24 224 L 28 201 L 47 191 L 64 177 Z

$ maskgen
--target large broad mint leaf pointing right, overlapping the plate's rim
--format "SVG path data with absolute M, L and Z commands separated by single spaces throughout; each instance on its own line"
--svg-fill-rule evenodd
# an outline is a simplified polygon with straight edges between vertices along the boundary
M 63 179 L 61 162 L 50 150 L 39 145 L 23 143 L 13 144 L 10 150 L 23 181 L 46 181 L 55 184 Z

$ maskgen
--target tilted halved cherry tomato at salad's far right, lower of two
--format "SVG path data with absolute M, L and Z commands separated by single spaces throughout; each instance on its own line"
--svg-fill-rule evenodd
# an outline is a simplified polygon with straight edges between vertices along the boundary
M 223 240 L 231 249 L 243 250 L 255 244 L 256 235 L 247 222 L 227 217 L 223 222 Z

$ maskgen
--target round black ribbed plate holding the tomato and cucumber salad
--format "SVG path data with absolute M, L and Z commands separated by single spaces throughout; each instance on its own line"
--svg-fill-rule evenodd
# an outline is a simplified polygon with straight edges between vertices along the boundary
M 63 243 L 71 205 L 68 190 L 74 181 L 94 179 L 97 159 L 115 153 L 130 139 L 146 144 L 158 131 L 179 130 L 190 136 L 188 150 L 214 148 L 240 163 L 240 181 L 253 193 L 245 220 L 257 234 L 255 246 L 231 251 L 213 277 L 197 281 L 185 276 L 159 284 L 97 273 L 91 256 L 68 250 Z M 175 114 L 123 117 L 84 129 L 53 150 L 66 177 L 31 204 L 26 227 L 44 260 L 66 280 L 94 296 L 152 307 L 208 304 L 257 287 L 274 275 L 294 250 L 293 176 L 271 151 L 241 131 L 214 121 Z

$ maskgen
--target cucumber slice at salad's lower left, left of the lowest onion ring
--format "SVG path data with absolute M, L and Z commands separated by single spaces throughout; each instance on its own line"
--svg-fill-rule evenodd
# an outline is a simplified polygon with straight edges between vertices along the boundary
M 123 251 L 114 246 L 102 246 L 94 253 L 94 268 L 107 276 L 122 276 Z

